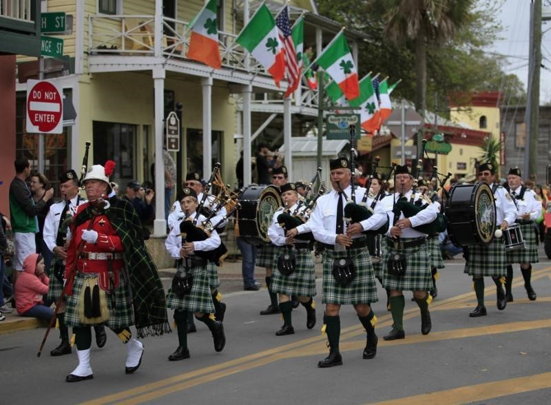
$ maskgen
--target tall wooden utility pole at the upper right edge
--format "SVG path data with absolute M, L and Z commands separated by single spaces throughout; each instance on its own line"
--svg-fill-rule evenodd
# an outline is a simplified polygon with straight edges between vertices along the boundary
M 528 65 L 528 105 L 526 108 L 526 150 L 524 177 L 537 174 L 539 137 L 539 71 L 541 68 L 541 0 L 530 5 L 530 55 Z

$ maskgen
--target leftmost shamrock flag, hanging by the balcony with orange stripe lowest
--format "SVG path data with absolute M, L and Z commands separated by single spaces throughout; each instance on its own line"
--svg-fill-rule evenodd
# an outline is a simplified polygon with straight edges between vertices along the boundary
M 200 61 L 220 69 L 222 61 L 218 49 L 218 23 L 216 21 L 216 0 L 210 0 L 189 23 L 191 38 L 187 58 Z

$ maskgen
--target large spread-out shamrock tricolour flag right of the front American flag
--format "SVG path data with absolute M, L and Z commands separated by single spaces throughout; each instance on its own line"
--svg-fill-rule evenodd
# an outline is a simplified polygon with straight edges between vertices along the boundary
M 337 82 L 346 98 L 353 100 L 360 96 L 357 70 L 342 31 L 326 46 L 315 63 L 318 63 Z

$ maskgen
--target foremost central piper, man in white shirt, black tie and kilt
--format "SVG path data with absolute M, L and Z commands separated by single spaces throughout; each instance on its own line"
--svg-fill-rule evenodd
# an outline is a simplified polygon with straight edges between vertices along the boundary
M 329 355 L 318 362 L 318 367 L 342 364 L 339 352 L 339 312 L 342 304 L 353 305 L 362 326 L 366 329 L 364 359 L 372 359 L 377 353 L 377 318 L 368 304 L 377 302 L 377 287 L 362 232 L 379 229 L 387 220 L 382 207 L 377 206 L 373 216 L 345 228 L 344 205 L 346 198 L 352 196 L 349 160 L 331 160 L 329 167 L 333 189 L 329 194 L 318 198 L 308 222 L 315 240 L 322 243 L 325 248 L 322 302 L 325 304 L 324 329 L 329 340 Z M 358 188 L 355 191 L 355 201 L 360 202 L 366 190 Z

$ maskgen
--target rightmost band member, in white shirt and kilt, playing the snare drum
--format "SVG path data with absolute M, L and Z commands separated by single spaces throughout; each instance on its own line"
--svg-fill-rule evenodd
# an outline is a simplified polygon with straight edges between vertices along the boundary
M 526 247 L 524 249 L 507 251 L 507 277 L 505 282 L 505 291 L 507 302 L 512 301 L 511 283 L 512 283 L 512 263 L 521 264 L 522 277 L 524 279 L 524 288 L 530 301 L 537 298 L 534 289 L 532 289 L 532 263 L 539 262 L 538 246 L 536 233 L 534 232 L 534 220 L 541 215 L 541 200 L 539 196 L 521 185 L 521 169 L 515 167 L 509 170 L 507 183 L 509 185 L 510 196 L 513 203 L 517 206 L 517 224 L 521 226 L 521 233 Z

